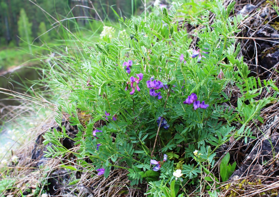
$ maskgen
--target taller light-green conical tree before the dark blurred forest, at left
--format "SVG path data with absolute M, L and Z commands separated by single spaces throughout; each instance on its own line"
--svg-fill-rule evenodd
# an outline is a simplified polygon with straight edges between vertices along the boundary
M 32 23 L 29 23 L 28 17 L 22 8 L 20 10 L 19 21 L 18 21 L 18 30 L 19 30 L 19 37 L 24 41 L 21 41 L 21 45 L 25 45 L 27 42 L 28 44 L 32 43 Z M 29 46 L 29 51 L 32 53 L 31 46 Z

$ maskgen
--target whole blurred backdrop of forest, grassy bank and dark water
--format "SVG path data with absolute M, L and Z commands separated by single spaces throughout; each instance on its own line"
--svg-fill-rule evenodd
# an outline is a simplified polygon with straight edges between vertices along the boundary
M 116 13 L 124 19 L 140 15 L 144 2 L 147 6 L 154 3 L 149 0 L 0 0 L 0 87 L 19 93 L 26 92 L 31 85 L 36 88 L 31 81 L 40 78 L 40 69 L 36 68 L 46 63 L 42 57 L 52 56 L 47 49 L 67 50 L 64 44 L 70 41 L 66 36 L 69 32 L 87 45 L 98 42 L 104 25 L 115 28 L 119 25 Z M 0 114 L 5 116 L 5 111 L 14 105 L 20 105 L 20 101 L 0 91 Z

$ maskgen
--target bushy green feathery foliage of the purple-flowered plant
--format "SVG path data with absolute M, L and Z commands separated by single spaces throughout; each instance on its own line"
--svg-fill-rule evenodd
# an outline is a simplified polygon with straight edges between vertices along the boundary
M 175 23 L 181 9 L 179 3 L 169 10 L 158 9 L 160 20 L 153 13 L 146 21 L 141 17 L 124 20 L 116 15 L 131 36 L 124 39 L 112 36 L 90 48 L 85 45 L 88 59 L 82 66 L 77 63 L 78 58 L 73 61 L 77 65 L 73 79 L 64 70 L 60 75 L 54 74 L 52 85 L 71 94 L 67 101 L 58 102 L 55 119 L 62 132 L 53 129 L 44 135 L 44 144 L 51 143 L 45 156 L 64 156 L 71 152 L 60 140 L 69 138 L 61 125 L 62 113 L 66 113 L 70 125 L 78 128 L 78 134 L 72 139 L 79 146 L 78 151 L 71 152 L 78 158 L 77 162 L 89 158 L 88 170 L 104 168 L 105 178 L 112 167 L 125 169 L 131 185 L 148 182 L 146 195 L 182 196 L 177 194 L 178 189 L 185 184 L 202 187 L 204 174 L 207 182 L 228 179 L 235 169 L 235 164 L 228 164 L 229 155 L 221 162 L 221 177 L 210 173 L 215 164 L 215 151 L 233 139 L 247 142 L 248 138 L 255 138 L 247 125 L 256 119 L 262 121 L 260 110 L 272 101 L 258 96 L 263 89 L 278 90 L 273 81 L 262 84 L 259 79 L 249 77 L 243 57 L 238 58 L 240 45 L 230 37 L 239 32 L 238 25 L 244 17 L 239 14 L 229 18 L 234 5 L 231 2 L 225 8 L 221 1 L 214 1 L 210 11 L 215 18 L 211 25 L 209 11 L 203 12 L 203 17 L 194 18 L 203 27 L 197 32 L 199 41 L 195 49 L 200 49 L 200 53 L 196 58 L 192 58 L 193 51 L 189 49 L 191 38 Z M 129 74 L 122 66 L 128 60 L 133 61 Z M 132 85 L 131 77 L 140 73 L 143 79 Z M 146 85 L 150 78 L 163 83 L 164 87 L 156 89 L 161 99 L 150 95 Z M 133 92 L 136 83 L 140 91 Z M 227 86 L 239 88 L 235 109 L 230 105 L 231 95 L 225 91 Z M 195 110 L 193 104 L 184 104 L 192 93 L 209 107 Z M 89 114 L 90 119 L 82 120 L 80 112 Z M 168 129 L 159 128 L 163 119 Z M 105 123 L 100 125 L 100 121 Z M 95 130 L 102 132 L 93 136 Z M 163 160 L 164 154 L 168 156 L 167 161 Z M 150 167 L 151 159 L 159 162 L 158 172 L 153 170 L 154 166 Z M 183 174 L 176 181 L 175 168 Z

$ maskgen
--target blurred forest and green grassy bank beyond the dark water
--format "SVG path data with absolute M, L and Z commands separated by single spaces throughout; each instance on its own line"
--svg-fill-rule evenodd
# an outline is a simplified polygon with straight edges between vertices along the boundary
M 0 0 L 0 70 L 28 61 L 36 52 L 28 44 L 62 39 L 57 21 L 71 31 L 76 24 L 69 19 L 92 31 L 101 25 L 98 21 L 111 23 L 115 20 L 111 6 L 127 18 L 143 9 L 141 0 Z

